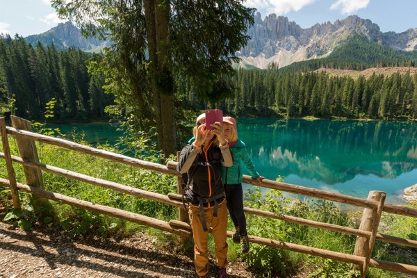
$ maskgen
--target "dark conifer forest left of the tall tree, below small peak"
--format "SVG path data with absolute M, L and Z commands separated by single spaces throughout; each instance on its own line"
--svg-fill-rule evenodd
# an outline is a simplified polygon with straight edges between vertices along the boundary
M 113 103 L 106 95 L 104 76 L 88 72 L 88 60 L 98 58 L 74 47 L 58 51 L 54 45 L 32 47 L 22 37 L 0 36 L 0 97 L 2 111 L 29 120 L 43 120 L 47 102 L 56 100 L 57 120 L 106 117 Z

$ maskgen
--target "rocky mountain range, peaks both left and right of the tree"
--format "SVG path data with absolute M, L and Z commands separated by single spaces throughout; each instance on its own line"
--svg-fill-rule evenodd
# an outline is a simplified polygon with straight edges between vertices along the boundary
M 303 60 L 325 58 L 355 34 L 400 51 L 417 49 L 417 28 L 409 28 L 402 33 L 383 33 L 377 24 L 356 15 L 336 20 L 333 24 L 326 22 L 301 28 L 287 17 L 270 14 L 262 19 L 261 13 L 256 13 L 254 25 L 247 31 L 250 40 L 238 52 L 240 66 L 265 69 L 270 63 L 275 63 L 281 68 Z M 84 38 L 79 28 L 71 22 L 58 24 L 45 33 L 30 35 L 25 40 L 33 45 L 40 41 L 42 44 L 54 43 L 58 49 L 73 46 L 84 51 L 100 51 L 111 43 Z

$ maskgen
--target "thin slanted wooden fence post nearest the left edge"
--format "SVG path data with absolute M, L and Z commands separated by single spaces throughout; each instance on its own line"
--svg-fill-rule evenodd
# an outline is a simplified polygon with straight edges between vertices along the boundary
M 3 143 L 4 157 L 6 158 L 5 159 L 6 168 L 7 168 L 8 180 L 10 184 L 10 191 L 12 193 L 13 207 L 20 209 L 20 199 L 19 199 L 19 193 L 17 192 L 15 169 L 13 168 L 12 156 L 10 154 L 10 146 L 8 144 L 6 120 L 3 117 L 0 117 L 0 133 L 1 133 L 1 142 Z

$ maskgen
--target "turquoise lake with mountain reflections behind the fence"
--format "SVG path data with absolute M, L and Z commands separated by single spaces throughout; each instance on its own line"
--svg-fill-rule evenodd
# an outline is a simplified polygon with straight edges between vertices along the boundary
M 76 128 L 93 145 L 113 144 L 122 135 L 108 123 L 48 126 L 63 133 Z M 286 183 L 363 198 L 370 190 L 382 190 L 386 202 L 394 204 L 403 204 L 401 190 L 417 183 L 414 122 L 259 118 L 238 119 L 237 126 L 258 172 L 267 179 L 282 176 Z

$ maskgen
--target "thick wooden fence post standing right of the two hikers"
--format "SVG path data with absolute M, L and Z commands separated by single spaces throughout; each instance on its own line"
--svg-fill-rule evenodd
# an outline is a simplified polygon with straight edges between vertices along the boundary
M 362 266 L 354 265 L 355 270 L 361 272 L 361 278 L 366 277 L 370 256 L 372 256 L 375 238 L 379 227 L 379 220 L 381 220 L 382 210 L 384 208 L 386 193 L 382 191 L 370 191 L 368 200 L 378 202 L 377 209 L 364 208 L 359 230 L 370 231 L 370 238 L 358 236 L 356 245 L 354 246 L 354 255 L 363 256 L 365 262 Z

